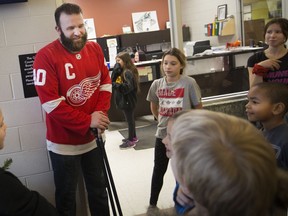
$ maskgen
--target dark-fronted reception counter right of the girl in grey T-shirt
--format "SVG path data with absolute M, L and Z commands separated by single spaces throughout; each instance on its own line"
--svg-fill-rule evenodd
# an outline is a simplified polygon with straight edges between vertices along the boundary
M 211 55 L 187 57 L 185 73 L 197 81 L 203 98 L 247 91 L 247 60 L 262 49 L 239 47 Z

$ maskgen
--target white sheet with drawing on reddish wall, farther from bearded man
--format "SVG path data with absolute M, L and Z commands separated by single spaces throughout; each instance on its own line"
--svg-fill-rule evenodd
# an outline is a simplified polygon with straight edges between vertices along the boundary
M 156 11 L 132 13 L 134 32 L 147 32 L 159 30 Z

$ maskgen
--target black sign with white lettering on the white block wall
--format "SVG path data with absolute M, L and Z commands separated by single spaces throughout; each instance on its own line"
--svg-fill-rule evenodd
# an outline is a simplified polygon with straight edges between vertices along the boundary
M 25 98 L 38 96 L 33 80 L 33 63 L 35 56 L 36 53 L 18 56 Z

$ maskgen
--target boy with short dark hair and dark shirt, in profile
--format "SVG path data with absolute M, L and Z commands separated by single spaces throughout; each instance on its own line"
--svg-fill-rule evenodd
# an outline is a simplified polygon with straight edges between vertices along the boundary
M 281 83 L 258 83 L 248 93 L 246 113 L 249 121 L 260 122 L 265 138 L 272 144 L 278 166 L 288 170 L 288 86 Z

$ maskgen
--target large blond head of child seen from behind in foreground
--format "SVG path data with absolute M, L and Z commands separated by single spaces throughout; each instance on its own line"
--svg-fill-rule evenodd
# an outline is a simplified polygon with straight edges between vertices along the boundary
M 196 209 L 205 209 L 199 216 L 268 212 L 276 191 L 276 161 L 250 122 L 192 110 L 177 118 L 172 129 L 172 168 L 194 197 Z

